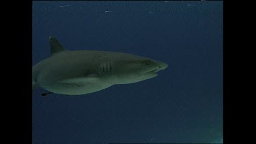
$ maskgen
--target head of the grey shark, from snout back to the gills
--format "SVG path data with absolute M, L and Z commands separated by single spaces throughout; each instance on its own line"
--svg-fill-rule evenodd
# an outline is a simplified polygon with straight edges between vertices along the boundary
M 137 83 L 157 76 L 157 72 L 165 70 L 168 65 L 152 59 L 123 60 L 117 63 L 115 76 L 118 84 Z

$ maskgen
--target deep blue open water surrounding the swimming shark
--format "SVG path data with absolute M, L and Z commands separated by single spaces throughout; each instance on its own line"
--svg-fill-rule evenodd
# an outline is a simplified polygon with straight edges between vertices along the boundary
M 33 1 L 32 18 L 33 65 L 50 56 L 50 35 L 70 51 L 169 64 L 155 78 L 85 96 L 35 89 L 34 144 L 223 141 L 222 1 Z

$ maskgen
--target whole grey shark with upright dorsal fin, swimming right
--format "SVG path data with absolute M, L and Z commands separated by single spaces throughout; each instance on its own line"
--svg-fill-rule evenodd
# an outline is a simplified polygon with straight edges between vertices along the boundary
M 117 84 L 144 81 L 165 70 L 167 63 L 107 51 L 66 51 L 51 36 L 51 57 L 32 68 L 32 91 L 42 87 L 64 95 L 93 93 Z

